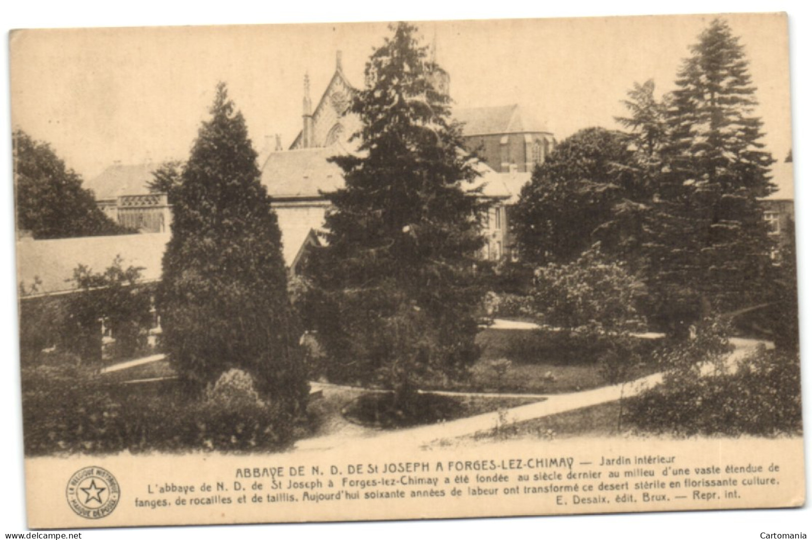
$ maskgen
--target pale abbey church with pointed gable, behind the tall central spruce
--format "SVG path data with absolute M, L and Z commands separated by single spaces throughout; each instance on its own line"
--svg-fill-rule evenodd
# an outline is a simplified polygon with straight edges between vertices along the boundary
M 448 75 L 436 77 L 435 88 L 448 92 Z M 321 193 L 343 186 L 342 170 L 327 159 L 352 152 L 349 139 L 361 128 L 360 119 L 348 113 L 354 92 L 343 73 L 339 52 L 335 72 L 315 106 L 309 77 L 304 76 L 302 129 L 290 148 L 261 156 L 261 181 L 274 199 L 283 242 L 287 231 L 321 229 L 329 208 Z M 555 139 L 543 126 L 523 117 L 518 105 L 461 109 L 452 114 L 462 123 L 466 149 L 482 159 L 480 177 L 472 188 L 482 186 L 482 195 L 495 201 L 483 223 L 487 242 L 482 257 L 499 260 L 512 249 L 509 208 L 529 182 L 533 166 L 551 152 Z

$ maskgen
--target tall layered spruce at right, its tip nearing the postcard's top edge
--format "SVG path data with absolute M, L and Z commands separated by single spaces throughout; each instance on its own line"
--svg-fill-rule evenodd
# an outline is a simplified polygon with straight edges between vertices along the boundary
M 691 51 L 667 100 L 646 242 L 655 310 L 683 327 L 758 302 L 771 251 L 758 199 L 774 189 L 738 38 L 715 19 Z

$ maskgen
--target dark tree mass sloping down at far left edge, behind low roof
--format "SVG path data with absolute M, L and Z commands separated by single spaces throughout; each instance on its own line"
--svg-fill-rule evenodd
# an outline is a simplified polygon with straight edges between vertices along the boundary
M 96 205 L 82 178 L 47 143 L 22 130 L 13 134 L 17 229 L 34 238 L 72 238 L 127 234 Z

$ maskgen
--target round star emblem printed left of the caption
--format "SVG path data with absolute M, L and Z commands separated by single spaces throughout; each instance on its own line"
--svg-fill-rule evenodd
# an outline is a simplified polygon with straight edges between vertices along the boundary
M 67 504 L 74 512 L 89 520 L 97 520 L 113 512 L 119 504 L 119 482 L 102 467 L 79 469 L 67 481 Z

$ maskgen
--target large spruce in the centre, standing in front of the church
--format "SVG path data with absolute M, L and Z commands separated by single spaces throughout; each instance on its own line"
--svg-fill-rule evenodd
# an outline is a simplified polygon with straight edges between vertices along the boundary
M 486 204 L 434 85 L 441 68 L 397 24 L 352 101 L 358 152 L 333 158 L 345 186 L 325 194 L 328 247 L 309 265 L 313 324 L 330 377 L 395 390 L 401 409 L 417 384 L 453 376 L 477 358 L 477 251 Z

